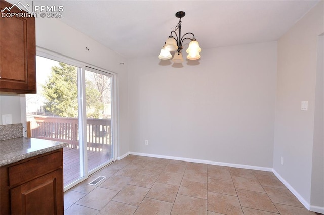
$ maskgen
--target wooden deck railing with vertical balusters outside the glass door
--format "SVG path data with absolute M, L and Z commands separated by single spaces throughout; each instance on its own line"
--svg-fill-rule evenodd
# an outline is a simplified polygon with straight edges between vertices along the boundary
M 68 143 L 69 148 L 79 147 L 78 119 L 35 116 L 31 123 L 31 137 Z M 87 119 L 88 150 L 101 151 L 111 146 L 111 119 Z

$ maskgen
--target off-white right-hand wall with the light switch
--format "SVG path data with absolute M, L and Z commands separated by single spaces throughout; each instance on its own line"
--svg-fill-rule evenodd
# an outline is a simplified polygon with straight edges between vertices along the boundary
M 306 206 L 311 199 L 317 38 L 323 24 L 321 1 L 278 40 L 273 168 Z M 301 101 L 308 101 L 308 111 L 301 111 Z

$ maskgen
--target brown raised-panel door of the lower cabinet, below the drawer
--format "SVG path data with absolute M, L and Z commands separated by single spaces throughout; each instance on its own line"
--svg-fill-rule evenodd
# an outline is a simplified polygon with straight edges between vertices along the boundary
M 12 214 L 63 214 L 63 173 L 58 169 L 10 190 Z

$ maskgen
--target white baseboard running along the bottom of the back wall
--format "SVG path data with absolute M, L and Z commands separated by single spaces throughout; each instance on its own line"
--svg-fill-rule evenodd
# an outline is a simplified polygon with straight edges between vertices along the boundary
M 236 167 L 236 168 L 251 169 L 251 170 L 263 170 L 263 171 L 272 172 L 272 168 L 269 168 L 269 167 L 258 167 L 258 166 L 242 165 L 242 164 L 214 162 L 214 161 L 210 161 L 210 160 L 200 160 L 200 159 L 192 159 L 192 158 L 185 158 L 185 157 L 174 157 L 174 156 L 146 154 L 146 153 L 138 153 L 138 152 L 129 152 L 129 154 L 145 156 L 145 157 L 156 157 L 156 158 L 164 158 L 164 159 L 171 159 L 171 160 L 182 160 L 185 162 L 195 162 L 195 163 L 201 163 L 201 164 L 211 164 L 211 165 Z

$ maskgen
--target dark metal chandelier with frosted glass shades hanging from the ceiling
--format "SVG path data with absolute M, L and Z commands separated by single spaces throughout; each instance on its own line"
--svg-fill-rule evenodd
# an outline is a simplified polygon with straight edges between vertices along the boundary
M 187 55 L 187 59 L 189 60 L 197 60 L 200 58 L 199 53 L 201 52 L 201 48 L 199 47 L 199 43 L 197 42 L 197 40 L 194 38 L 194 34 L 193 33 L 185 33 L 182 37 L 181 37 L 181 18 L 184 17 L 186 15 L 185 12 L 183 11 L 178 11 L 176 13 L 176 17 L 178 17 L 180 20 L 178 22 L 178 25 L 175 27 L 174 31 L 171 31 L 169 38 L 167 39 L 167 41 L 165 42 L 165 45 L 163 46 L 163 48 L 161 49 L 161 53 L 158 56 L 159 59 L 161 60 L 168 60 L 172 58 L 172 55 L 170 52 L 175 51 L 173 59 L 171 61 L 173 61 L 174 63 L 182 63 L 183 62 L 183 57 L 182 57 L 182 44 L 183 41 L 186 39 L 190 39 L 191 42 L 189 43 L 188 49 L 186 50 L 186 52 L 188 53 Z M 178 35 L 177 35 L 177 31 L 178 30 Z M 174 34 L 175 37 L 172 35 Z M 193 38 L 189 38 L 188 35 L 192 35 Z

